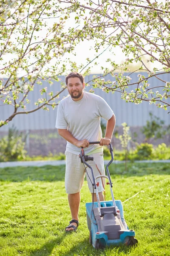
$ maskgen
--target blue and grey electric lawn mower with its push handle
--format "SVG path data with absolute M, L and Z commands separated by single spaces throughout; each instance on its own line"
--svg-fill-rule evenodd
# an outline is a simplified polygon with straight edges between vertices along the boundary
M 90 142 L 90 144 L 99 144 L 99 142 Z M 93 168 L 87 163 L 87 161 L 94 160 L 94 157 L 85 155 L 85 151 L 82 148 L 80 152 L 80 159 L 84 165 L 91 169 L 93 178 L 94 193 L 96 193 L 97 202 L 86 203 L 87 223 L 90 231 L 90 243 L 94 248 L 100 249 L 110 245 L 127 244 L 133 246 L 137 244 L 137 239 L 134 238 L 135 231 L 129 230 L 123 215 L 123 206 L 120 200 L 115 200 L 112 190 L 111 176 L 108 166 L 113 162 L 113 148 L 111 143 L 110 153 L 111 160 L 106 166 L 107 175 L 98 175 L 94 177 Z M 97 186 L 99 183 L 97 179 L 108 179 L 107 185 L 111 190 L 111 201 L 100 201 L 99 192 Z

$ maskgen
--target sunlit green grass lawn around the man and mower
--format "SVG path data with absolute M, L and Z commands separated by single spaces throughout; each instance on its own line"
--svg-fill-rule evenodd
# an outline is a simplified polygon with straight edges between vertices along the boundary
M 115 199 L 123 202 L 125 220 L 139 241 L 137 247 L 96 251 L 89 244 L 85 203 L 91 201 L 91 194 L 86 181 L 79 229 L 65 233 L 71 220 L 65 166 L 15 167 L 0 169 L 0 256 L 169 256 L 169 164 L 129 163 L 127 172 L 123 164 L 112 164 L 110 172 Z M 111 199 L 108 189 L 106 200 Z

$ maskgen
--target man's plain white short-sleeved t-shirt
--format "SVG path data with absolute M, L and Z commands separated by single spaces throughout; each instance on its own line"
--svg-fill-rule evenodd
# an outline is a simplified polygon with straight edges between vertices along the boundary
M 74 101 L 71 96 L 59 102 L 57 110 L 56 128 L 67 129 L 77 140 L 100 141 L 102 139 L 102 129 L 100 127 L 100 117 L 109 120 L 113 116 L 113 111 L 100 96 L 83 91 L 83 97 L 79 101 Z M 85 148 L 85 153 L 101 148 L 99 144 L 89 145 Z M 66 151 L 79 154 L 80 148 L 67 142 Z

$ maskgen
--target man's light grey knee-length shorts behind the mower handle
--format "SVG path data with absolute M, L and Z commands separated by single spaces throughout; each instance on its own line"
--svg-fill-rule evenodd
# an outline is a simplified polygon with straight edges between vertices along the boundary
M 86 179 L 88 182 L 88 187 L 90 189 L 90 192 L 93 193 L 93 186 L 91 185 L 91 181 L 93 183 L 93 178 L 91 175 L 91 169 L 86 168 L 88 175 L 91 179 L 89 179 L 88 175 L 85 174 L 85 167 L 83 163 L 81 163 L 81 160 L 79 158 L 79 155 L 72 154 L 68 151 L 65 151 L 66 156 L 66 166 L 65 166 L 65 190 L 67 194 L 75 194 L 79 192 L 82 188 L 82 185 L 84 183 L 84 178 L 86 175 Z M 103 152 L 91 154 L 91 157 L 94 157 L 94 161 L 88 161 L 88 164 L 93 168 L 94 171 L 94 177 L 97 175 L 100 175 L 99 171 L 101 172 L 101 175 L 105 175 L 105 167 L 104 167 L 104 160 L 103 160 Z M 98 169 L 97 169 L 97 167 Z M 97 179 L 97 182 L 99 182 L 99 186 L 97 187 L 98 192 L 104 191 L 103 184 L 105 186 L 105 178 L 99 178 Z M 94 189 L 94 192 L 96 189 Z

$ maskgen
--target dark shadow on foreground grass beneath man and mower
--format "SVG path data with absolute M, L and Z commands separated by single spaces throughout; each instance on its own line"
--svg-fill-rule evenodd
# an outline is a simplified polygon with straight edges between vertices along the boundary
M 78 235 L 78 233 L 77 233 Z M 57 239 L 54 239 L 52 241 L 48 241 L 46 244 L 44 244 L 39 250 L 34 250 L 31 254 L 29 254 L 29 256 L 49 256 L 51 255 L 52 251 L 54 250 L 54 255 L 62 255 L 62 256 L 74 256 L 74 255 L 91 255 L 91 256 L 100 256 L 102 254 L 102 256 L 108 256 L 108 255 L 113 255 L 115 253 L 124 253 L 124 254 L 128 254 L 130 250 L 132 250 L 131 247 L 127 247 L 125 245 L 121 245 L 121 246 L 111 246 L 105 249 L 99 249 L 96 250 L 92 247 L 92 245 L 89 243 L 89 239 L 84 239 L 81 242 L 78 242 L 77 244 L 74 244 L 75 236 L 73 237 L 72 243 L 73 243 L 73 247 L 71 247 L 71 249 L 65 248 L 67 251 L 65 251 L 65 249 L 62 249 L 63 246 L 66 246 L 66 243 L 62 245 L 62 240 L 66 237 L 66 236 L 72 236 L 71 233 L 67 234 L 67 233 L 63 233 L 62 236 L 58 237 Z M 70 237 L 71 239 L 71 237 Z M 61 250 L 59 249 L 59 247 L 57 248 L 57 246 L 61 246 Z M 56 250 L 55 250 L 56 249 Z

